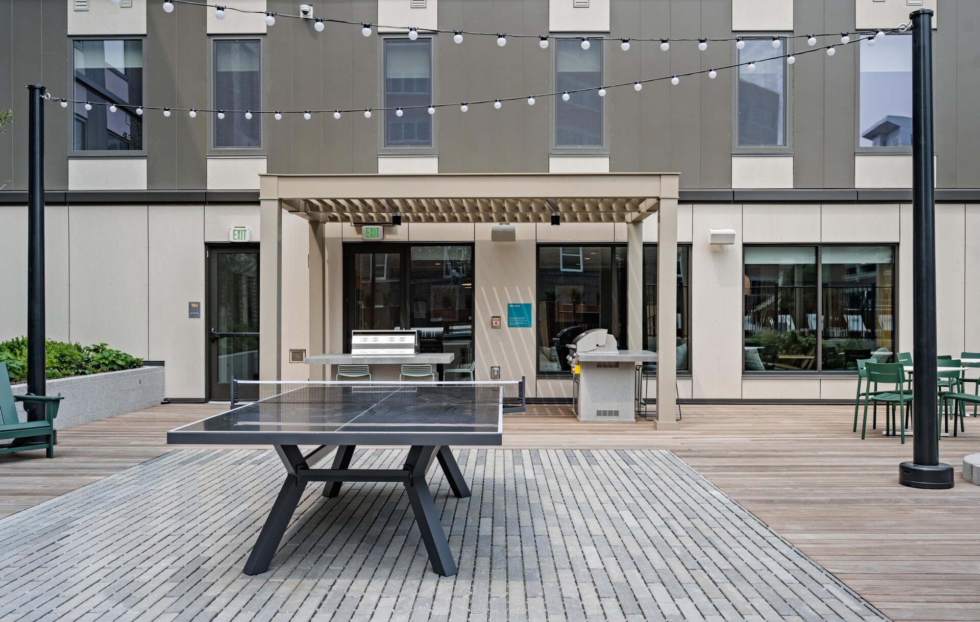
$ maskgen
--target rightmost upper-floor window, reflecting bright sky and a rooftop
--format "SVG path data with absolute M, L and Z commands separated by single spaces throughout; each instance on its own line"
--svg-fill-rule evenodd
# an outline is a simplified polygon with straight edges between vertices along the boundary
M 860 46 L 859 147 L 912 145 L 912 38 Z

